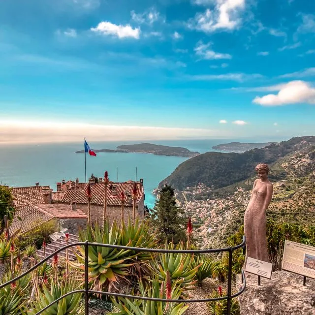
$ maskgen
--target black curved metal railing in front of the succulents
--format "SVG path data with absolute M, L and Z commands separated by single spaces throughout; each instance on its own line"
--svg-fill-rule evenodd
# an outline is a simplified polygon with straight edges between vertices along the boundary
M 227 247 L 227 248 L 221 248 L 221 249 L 211 249 L 211 250 L 162 250 L 162 249 L 148 249 L 148 248 L 138 248 L 138 247 L 129 247 L 129 246 L 119 246 L 119 245 L 110 245 L 110 244 L 101 244 L 101 243 L 91 243 L 88 241 L 85 242 L 77 242 L 68 244 L 66 246 L 63 246 L 62 248 L 58 249 L 56 252 L 50 254 L 46 258 L 42 259 L 40 262 L 35 264 L 32 268 L 30 268 L 28 271 L 24 272 L 20 276 L 0 285 L 0 289 L 6 285 L 9 285 L 30 272 L 32 272 L 34 269 L 36 269 L 38 266 L 43 264 L 48 259 L 52 258 L 56 253 L 62 252 L 66 248 L 73 247 L 73 246 L 84 246 L 85 247 L 85 268 L 84 268 L 84 289 L 80 290 L 74 290 L 71 292 L 67 292 L 60 298 L 56 299 L 49 305 L 47 305 L 45 308 L 37 312 L 35 315 L 42 314 L 45 310 L 50 308 L 55 303 L 62 300 L 64 297 L 74 294 L 74 293 L 84 293 L 85 295 L 85 315 L 89 315 L 89 293 L 95 293 L 95 294 L 103 294 L 103 295 L 109 295 L 109 296 L 120 296 L 125 297 L 128 299 L 139 299 L 139 300 L 149 300 L 149 301 L 157 301 L 157 302 L 175 302 L 175 303 L 196 303 L 196 302 L 213 302 L 213 301 L 221 301 L 221 300 L 227 300 L 227 315 L 231 314 L 231 300 L 232 298 L 235 298 L 239 295 L 241 295 L 245 288 L 246 288 L 246 278 L 244 270 L 242 270 L 242 284 L 243 286 L 238 290 L 237 293 L 232 294 L 232 253 L 235 250 L 238 250 L 240 248 L 243 248 L 245 250 L 246 246 L 246 240 L 245 236 L 243 236 L 243 242 L 235 247 Z M 209 299 L 193 299 L 193 300 L 180 300 L 180 299 L 160 299 L 160 298 L 150 298 L 145 296 L 135 296 L 135 295 L 129 295 L 129 294 L 121 294 L 121 293 L 113 293 L 113 292 L 103 292 L 103 291 L 95 291 L 89 289 L 89 270 L 88 270 L 88 262 L 89 262 L 89 246 L 100 246 L 100 247 L 108 247 L 108 248 L 115 248 L 115 249 L 123 249 L 123 250 L 131 250 L 136 252 L 159 252 L 159 253 L 215 253 L 215 252 L 228 252 L 228 275 L 227 275 L 227 295 L 221 296 L 218 298 L 209 298 Z

